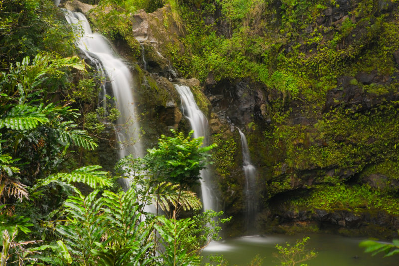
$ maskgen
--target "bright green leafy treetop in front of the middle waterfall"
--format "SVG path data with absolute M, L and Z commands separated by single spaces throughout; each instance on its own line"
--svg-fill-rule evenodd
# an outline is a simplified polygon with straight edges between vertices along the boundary
M 200 178 L 200 170 L 207 164 L 207 152 L 216 145 L 202 147 L 203 137 L 191 139 L 171 130 L 173 137 L 162 135 L 158 148 L 148 150 L 146 163 L 155 178 L 173 184 L 191 186 Z

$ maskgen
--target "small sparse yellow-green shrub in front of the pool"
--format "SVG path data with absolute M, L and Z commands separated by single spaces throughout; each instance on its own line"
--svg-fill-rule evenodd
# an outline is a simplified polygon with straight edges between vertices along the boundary
M 277 253 L 274 254 L 274 257 L 280 261 L 281 266 L 307 266 L 307 264 L 303 264 L 302 262 L 311 260 L 317 256 L 314 250 L 306 250 L 306 242 L 308 240 L 309 237 L 304 237 L 302 240 L 297 240 L 295 245 L 286 243 L 285 246 L 280 246 L 277 244 Z

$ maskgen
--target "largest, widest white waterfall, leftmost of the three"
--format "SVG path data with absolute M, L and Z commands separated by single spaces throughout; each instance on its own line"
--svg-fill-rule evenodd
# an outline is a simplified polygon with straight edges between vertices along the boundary
M 135 106 L 132 94 L 133 77 L 129 68 L 117 58 L 109 41 L 98 33 L 91 31 L 86 17 L 79 12 L 65 10 L 65 18 L 68 23 L 77 25 L 75 30 L 81 30 L 81 36 L 77 42 L 80 50 L 91 60 L 106 78 L 112 87 L 113 96 L 116 100 L 116 108 L 120 116 L 115 125 L 115 132 L 119 144 L 119 157 L 133 154 L 139 157 L 143 154 L 140 138 L 140 127 L 136 119 Z M 105 84 L 102 95 L 105 100 Z M 134 143 L 134 144 L 133 144 Z M 124 189 L 129 187 L 128 181 L 124 180 Z

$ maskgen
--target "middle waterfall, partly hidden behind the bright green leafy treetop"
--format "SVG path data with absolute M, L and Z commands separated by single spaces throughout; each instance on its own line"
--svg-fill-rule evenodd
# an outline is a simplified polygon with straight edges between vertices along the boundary
M 190 91 L 190 88 L 184 85 L 175 84 L 177 92 L 180 94 L 182 101 L 182 111 L 183 114 L 190 121 L 191 128 L 194 130 L 194 137 L 203 136 L 203 144 L 209 144 L 208 136 L 208 120 L 202 113 L 200 108 L 198 108 L 194 96 Z M 201 190 L 202 190 L 202 201 L 203 209 L 206 210 L 216 210 L 214 195 L 211 188 L 211 176 L 208 169 L 201 170 Z

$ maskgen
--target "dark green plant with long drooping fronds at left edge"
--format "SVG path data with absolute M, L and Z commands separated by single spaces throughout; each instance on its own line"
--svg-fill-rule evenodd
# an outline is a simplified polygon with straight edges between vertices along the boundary
M 86 149 L 97 146 L 72 121 L 79 116 L 75 110 L 43 103 L 47 90 L 55 90 L 57 79 L 70 67 L 84 70 L 77 57 L 52 58 L 39 54 L 32 62 L 25 57 L 22 62 L 11 64 L 8 73 L 0 74 L 1 202 L 11 196 L 19 200 L 27 198 L 21 175 L 31 179 L 40 171 L 51 169 L 57 164 L 55 158 L 61 157 L 60 153 L 69 146 Z M 33 165 L 36 167 L 31 169 Z

